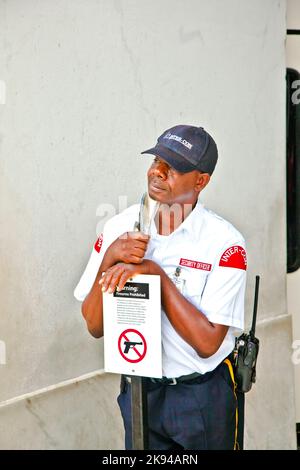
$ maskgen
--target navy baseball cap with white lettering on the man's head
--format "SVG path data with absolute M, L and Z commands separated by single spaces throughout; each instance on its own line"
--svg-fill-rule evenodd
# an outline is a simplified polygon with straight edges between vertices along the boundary
M 166 130 L 155 147 L 144 153 L 161 157 L 181 173 L 198 170 L 211 175 L 218 160 L 217 145 L 211 135 L 203 127 L 187 125 Z

